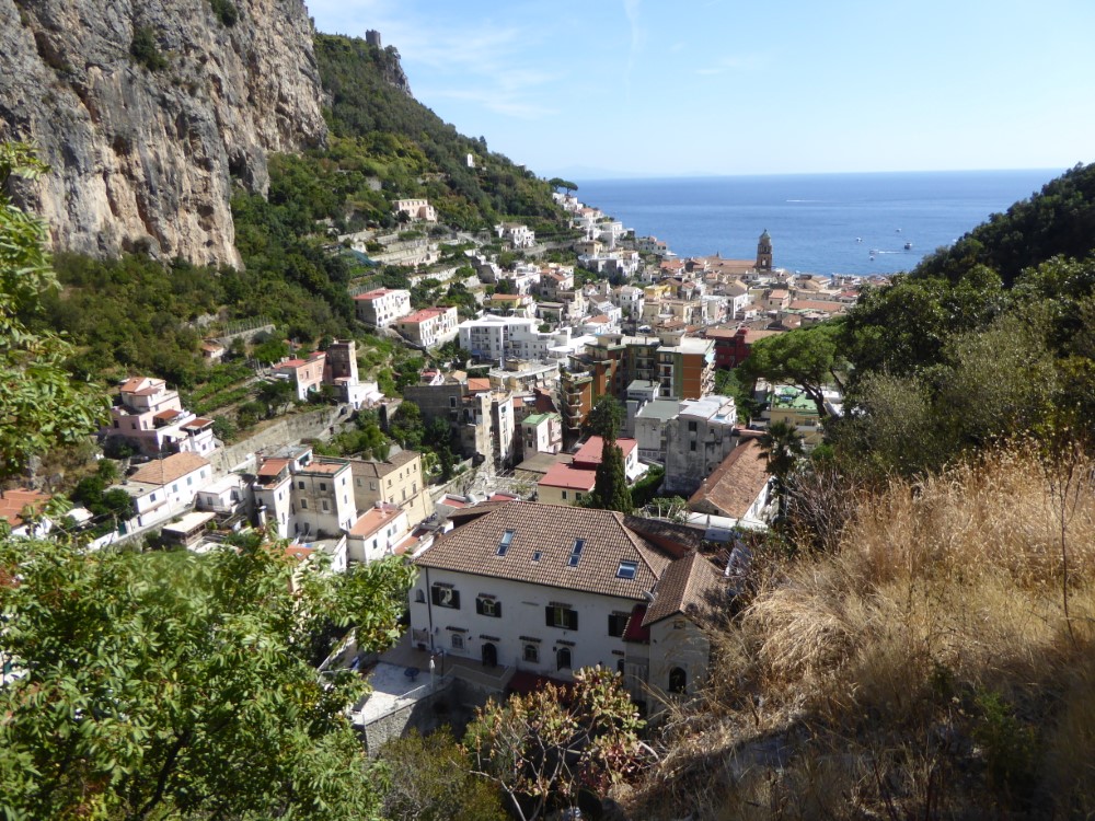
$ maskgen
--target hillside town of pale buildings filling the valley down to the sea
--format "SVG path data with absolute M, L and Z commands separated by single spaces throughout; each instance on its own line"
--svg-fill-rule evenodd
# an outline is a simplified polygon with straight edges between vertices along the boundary
M 750 415 L 716 391 L 716 374 L 740 366 L 758 339 L 842 314 L 862 282 L 775 266 L 766 231 L 752 258 L 680 258 L 570 192 L 554 196 L 575 230 L 573 264 L 544 261 L 549 248 L 517 223 L 496 226 L 492 238 L 509 252 L 505 265 L 482 243 L 463 251 L 461 268 L 437 262 L 437 242 L 342 238 L 377 263 L 403 266 L 412 284 L 474 271 L 461 280 L 476 303 L 463 320 L 452 305 L 414 308 L 407 289 L 353 293 L 362 331 L 435 361 L 439 350 L 452 355 L 401 396 L 360 378 L 351 339 L 300 354 L 290 344 L 261 369 L 263 391 L 287 407 L 321 394 L 325 404 L 296 427 L 290 416 L 226 444 L 163 379 L 125 380 L 100 440 L 124 469 L 104 496 L 128 497 L 119 508 L 128 514 L 112 512 L 91 547 L 152 537 L 205 552 L 260 528 L 330 573 L 406 557 L 419 571 L 410 624 L 394 649 L 369 660 L 372 694 L 353 712 L 373 747 L 418 721 L 422 699 L 447 692 L 475 703 L 566 682 L 585 667 L 621 672 L 650 712 L 664 706 L 652 693 L 698 692 L 710 656 L 700 624 L 734 595 L 748 534 L 775 511 L 765 430 L 789 426 L 810 448 L 822 424 L 794 385 L 761 381 Z M 394 208 L 405 222 L 437 220 L 425 199 Z M 203 350 L 218 361 L 231 343 L 208 339 Z M 606 444 L 589 421 L 607 398 L 621 409 L 609 436 L 626 483 L 645 486 L 633 512 L 586 507 Z M 454 475 L 441 476 L 428 450 L 399 442 L 379 458 L 323 452 L 361 413 L 395 438 L 404 404 L 431 436 L 456 443 Z M 827 413 L 840 407 L 840 394 L 827 391 Z M 36 532 L 48 530 L 27 510 L 48 499 L 5 494 L 14 532 L 27 527 L 20 511 Z M 103 514 L 78 507 L 67 517 L 80 528 Z M 360 662 L 349 637 L 325 663 Z

